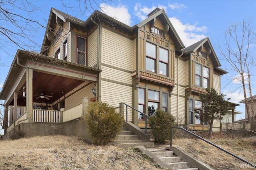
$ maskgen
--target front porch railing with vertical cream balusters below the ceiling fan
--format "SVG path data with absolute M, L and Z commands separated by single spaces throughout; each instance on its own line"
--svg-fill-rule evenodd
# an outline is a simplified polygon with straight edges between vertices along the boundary
M 61 111 L 33 109 L 33 122 L 60 123 Z

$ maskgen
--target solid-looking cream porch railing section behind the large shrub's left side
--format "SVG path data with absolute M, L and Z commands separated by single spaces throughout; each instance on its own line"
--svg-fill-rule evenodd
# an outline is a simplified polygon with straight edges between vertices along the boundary
M 78 119 L 83 115 L 83 104 L 62 111 L 63 122 Z

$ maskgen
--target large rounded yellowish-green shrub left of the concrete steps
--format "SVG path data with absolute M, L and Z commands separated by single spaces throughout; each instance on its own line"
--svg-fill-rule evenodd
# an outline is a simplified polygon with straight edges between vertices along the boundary
M 124 125 L 124 117 L 106 102 L 90 102 L 83 118 L 95 145 L 106 145 L 114 141 Z

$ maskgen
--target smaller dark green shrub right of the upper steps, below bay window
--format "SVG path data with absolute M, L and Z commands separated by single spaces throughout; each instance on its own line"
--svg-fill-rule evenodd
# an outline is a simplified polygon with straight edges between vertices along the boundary
M 160 109 L 148 118 L 148 124 L 151 127 L 151 134 L 156 143 L 164 143 L 170 138 L 171 127 L 175 126 L 175 117 Z

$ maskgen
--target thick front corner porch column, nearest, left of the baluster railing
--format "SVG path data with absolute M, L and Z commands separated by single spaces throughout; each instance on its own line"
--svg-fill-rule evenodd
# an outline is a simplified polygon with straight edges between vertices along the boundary
M 28 68 L 26 71 L 27 74 L 27 83 L 26 83 L 26 109 L 27 109 L 27 118 L 28 123 L 33 122 L 33 69 Z

